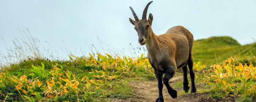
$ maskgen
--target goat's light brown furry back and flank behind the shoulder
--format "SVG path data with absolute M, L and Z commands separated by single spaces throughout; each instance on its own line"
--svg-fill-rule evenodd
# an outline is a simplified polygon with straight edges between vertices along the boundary
M 174 26 L 162 35 L 158 35 L 162 51 L 168 52 L 176 63 L 177 69 L 184 66 L 193 47 L 193 35 L 183 26 Z

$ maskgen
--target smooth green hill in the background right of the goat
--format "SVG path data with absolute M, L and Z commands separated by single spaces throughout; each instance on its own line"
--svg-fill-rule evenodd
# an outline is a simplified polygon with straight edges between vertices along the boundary
M 196 40 L 193 47 L 194 61 L 200 61 L 206 65 L 222 62 L 230 56 L 250 60 L 247 57 L 253 56 L 255 52 L 256 43 L 242 46 L 236 40 L 226 36 Z

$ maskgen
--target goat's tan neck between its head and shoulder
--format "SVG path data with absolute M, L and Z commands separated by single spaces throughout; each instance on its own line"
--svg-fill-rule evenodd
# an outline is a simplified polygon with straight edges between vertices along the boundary
M 152 29 L 150 30 L 148 40 L 146 41 L 146 47 L 148 50 L 148 54 L 152 57 L 157 53 L 160 48 L 159 40 Z

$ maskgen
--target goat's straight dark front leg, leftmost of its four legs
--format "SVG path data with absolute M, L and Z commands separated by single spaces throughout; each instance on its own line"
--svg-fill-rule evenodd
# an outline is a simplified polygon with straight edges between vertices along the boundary
M 157 79 L 157 83 L 158 83 L 158 93 L 159 96 L 156 99 L 156 102 L 164 102 L 164 98 L 163 98 L 163 74 L 159 73 L 155 70 L 155 75 L 156 75 L 156 79 Z

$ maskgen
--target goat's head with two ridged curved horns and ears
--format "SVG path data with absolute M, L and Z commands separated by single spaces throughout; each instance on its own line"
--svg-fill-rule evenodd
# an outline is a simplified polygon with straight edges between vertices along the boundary
M 151 32 L 151 25 L 152 25 L 152 21 L 153 21 L 153 15 L 150 13 L 148 20 L 147 20 L 147 11 L 148 11 L 148 6 L 149 4 L 151 4 L 153 1 L 149 2 L 142 14 L 142 19 L 139 20 L 139 18 L 137 17 L 136 13 L 133 11 L 132 7 L 130 6 L 130 9 L 132 10 L 132 14 L 135 18 L 135 21 L 132 20 L 131 18 L 129 18 L 130 22 L 132 23 L 132 25 L 134 25 L 134 29 L 137 31 L 138 36 L 139 36 L 139 43 L 140 45 L 145 45 L 148 36 Z

